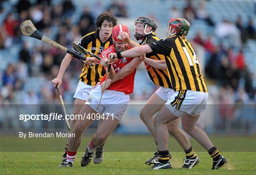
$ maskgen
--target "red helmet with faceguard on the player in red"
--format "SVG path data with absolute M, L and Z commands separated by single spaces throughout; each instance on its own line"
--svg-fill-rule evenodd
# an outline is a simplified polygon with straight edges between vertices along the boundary
M 130 38 L 130 33 L 129 33 L 129 29 L 127 25 L 116 25 L 113 27 L 113 31 L 112 31 L 112 39 L 113 39 L 113 45 L 116 51 L 124 51 L 124 50 L 128 50 L 128 43 L 126 43 L 125 41 L 122 40 L 122 38 L 120 38 L 119 36 L 119 32 L 126 32 L 129 35 Z M 118 39 L 117 39 L 118 38 Z M 118 49 L 117 45 L 119 44 L 125 44 L 127 46 L 125 46 L 125 49 Z

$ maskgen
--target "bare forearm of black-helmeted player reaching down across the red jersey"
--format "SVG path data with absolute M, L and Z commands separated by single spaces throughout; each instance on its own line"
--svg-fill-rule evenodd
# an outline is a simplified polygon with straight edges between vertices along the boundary
M 127 75 L 131 74 L 142 62 L 142 60 L 137 57 L 137 58 L 133 58 L 131 60 L 131 62 L 129 62 L 127 65 L 125 65 L 124 67 L 122 67 L 117 73 L 116 76 L 114 77 L 114 79 L 111 80 L 111 83 L 116 82 L 120 79 L 123 79 L 124 77 L 126 77 Z

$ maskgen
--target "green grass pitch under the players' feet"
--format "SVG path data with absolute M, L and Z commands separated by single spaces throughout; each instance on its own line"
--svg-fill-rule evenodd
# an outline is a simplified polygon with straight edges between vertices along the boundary
M 106 143 L 106 152 L 104 154 L 104 160 L 100 165 L 94 165 L 93 162 L 90 163 L 88 167 L 80 167 L 80 159 L 82 157 L 82 150 L 86 143 L 90 140 L 90 137 L 84 137 L 80 149 L 77 153 L 77 158 L 75 159 L 74 166 L 72 168 L 57 167 L 61 163 L 62 154 L 60 152 L 63 150 L 64 140 L 43 140 L 40 139 L 34 143 L 28 142 L 27 145 L 22 142 L 22 140 L 17 140 L 16 137 L 3 136 L 1 137 L 1 152 L 0 152 L 0 172 L 2 175 L 9 174 L 47 174 L 47 175 L 57 175 L 57 174 L 88 174 L 88 175 L 99 175 L 99 174 L 110 174 L 110 175 L 158 175 L 158 174 L 173 174 L 173 175 L 255 175 L 256 172 L 256 151 L 253 149 L 255 147 L 255 137 L 237 137 L 237 141 L 240 143 L 243 141 L 244 148 L 247 152 L 227 151 L 226 148 L 232 147 L 234 142 L 231 142 L 230 137 L 212 137 L 211 139 L 215 142 L 226 140 L 227 142 L 222 142 L 224 144 L 222 149 L 219 149 L 221 153 L 228 158 L 228 164 L 225 167 L 221 167 L 219 170 L 210 170 L 212 165 L 212 159 L 209 157 L 207 152 L 196 151 L 200 157 L 200 163 L 193 169 L 181 169 L 183 165 L 184 153 L 181 151 L 180 147 L 176 142 L 170 137 L 170 149 L 172 151 L 171 163 L 173 169 L 168 170 L 151 170 L 149 166 L 144 164 L 144 162 L 152 157 L 153 152 L 147 152 L 150 149 L 155 149 L 154 143 L 150 136 L 118 136 L 112 135 L 108 142 Z M 143 140 L 144 139 L 144 140 Z M 235 137 L 234 137 L 235 139 Z M 150 148 L 146 148 L 142 151 L 142 143 L 150 144 Z M 7 143 L 7 141 L 9 141 Z M 21 143 L 19 143 L 20 141 Z M 130 142 L 130 145 L 125 145 L 125 141 Z M 133 141 L 133 142 L 131 142 Z M 52 152 L 47 152 L 42 150 L 41 152 L 36 152 L 35 145 L 49 145 L 49 147 L 55 147 Z M 195 141 L 191 140 L 192 145 L 194 144 L 195 150 L 198 150 L 201 146 L 197 145 Z M 239 142 L 237 142 L 239 146 Z M 118 144 L 119 143 L 119 144 Z M 30 145 L 30 151 L 29 149 Z M 55 146 L 56 145 L 56 146 Z M 57 146 L 58 145 L 58 146 Z M 118 147 L 127 147 L 122 150 Z M 251 146 L 251 147 L 250 147 Z M 47 146 L 46 146 L 47 147 Z M 115 148 L 116 147 L 116 148 Z M 131 147 L 131 148 L 128 148 Z M 198 148 L 197 148 L 198 147 Z M 233 145 L 234 147 L 234 145 Z M 9 149 L 7 149 L 9 148 Z M 19 148 L 19 149 L 18 149 Z M 137 148 L 137 149 L 136 149 Z M 173 149 L 172 149 L 173 148 Z M 236 149 L 241 149 L 236 148 Z M 21 149 L 27 152 L 21 151 Z M 34 150 L 33 150 L 34 149 Z M 38 148 L 40 149 L 40 148 Z M 12 150 L 10 152 L 10 150 Z M 17 152 L 14 152 L 14 151 Z M 58 152 L 56 152 L 58 150 Z M 118 150 L 119 152 L 115 152 Z M 120 151 L 122 150 L 122 152 Z M 134 151 L 132 151 L 134 150 Z M 248 150 L 251 150 L 248 152 Z M 9 151 L 9 152 L 7 152 Z M 35 152 L 34 152 L 35 151 Z M 129 152 L 128 152 L 129 151 Z M 138 151 L 138 152 L 136 152 Z

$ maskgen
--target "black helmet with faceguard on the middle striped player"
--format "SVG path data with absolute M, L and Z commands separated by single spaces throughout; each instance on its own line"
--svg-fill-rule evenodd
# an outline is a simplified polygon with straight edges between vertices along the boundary
M 136 24 L 137 23 L 141 23 L 143 24 L 143 28 L 144 30 L 141 31 L 141 33 L 137 33 L 136 32 Z M 152 27 L 152 30 L 150 32 L 146 32 L 146 28 L 147 26 L 151 26 Z M 149 34 L 149 33 L 152 33 L 152 32 L 155 32 L 157 26 L 156 26 L 156 23 L 153 19 L 149 18 L 149 17 L 146 17 L 146 16 L 141 16 L 141 17 L 138 17 L 136 19 L 136 21 L 134 22 L 134 25 L 133 25 L 133 33 L 134 33 L 134 37 L 136 38 L 136 40 L 141 40 L 146 34 Z M 143 32 L 145 33 L 145 35 L 143 35 Z

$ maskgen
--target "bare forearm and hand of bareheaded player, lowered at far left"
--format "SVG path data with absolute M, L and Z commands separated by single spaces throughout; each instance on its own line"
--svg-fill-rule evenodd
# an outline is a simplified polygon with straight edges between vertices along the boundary
M 58 87 L 60 87 L 60 85 L 62 83 L 63 75 L 64 75 L 67 67 L 69 66 L 72 58 L 73 57 L 69 54 L 66 54 L 65 57 L 63 58 L 61 65 L 60 65 L 59 73 L 58 73 L 57 77 L 52 80 L 54 87 L 56 87 L 57 84 L 58 84 Z

